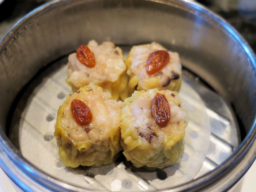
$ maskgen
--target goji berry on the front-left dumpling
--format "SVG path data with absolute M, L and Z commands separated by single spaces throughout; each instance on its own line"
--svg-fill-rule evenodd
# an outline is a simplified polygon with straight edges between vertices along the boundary
M 89 107 L 81 100 L 73 99 L 71 102 L 71 112 L 73 117 L 79 125 L 86 125 L 91 121 L 91 110 Z

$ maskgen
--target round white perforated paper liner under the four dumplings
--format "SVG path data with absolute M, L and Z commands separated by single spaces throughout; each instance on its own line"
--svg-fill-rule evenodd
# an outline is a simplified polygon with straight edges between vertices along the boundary
M 89 189 L 110 191 L 170 188 L 190 181 L 196 176 L 208 150 L 210 124 L 202 99 L 185 77 L 182 80 L 179 98 L 182 107 L 189 114 L 189 124 L 186 128 L 185 150 L 180 163 L 155 171 L 134 169 L 125 166 L 123 162 L 97 168 L 73 169 L 63 166 L 59 160 L 53 132 L 57 110 L 65 101 L 65 95 L 71 93 L 71 88 L 65 83 L 66 66 L 59 67 L 35 87 L 29 99 L 24 94 L 16 109 L 14 118 L 19 119 L 19 123 L 13 124 L 10 139 L 13 143 L 16 142 L 16 146 L 20 146 L 27 160 L 50 176 L 65 182 Z M 93 175 L 95 177 L 92 177 Z

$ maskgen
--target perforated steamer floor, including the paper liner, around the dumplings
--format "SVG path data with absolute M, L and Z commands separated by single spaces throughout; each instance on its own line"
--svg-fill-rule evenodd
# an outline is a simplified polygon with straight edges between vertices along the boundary
M 124 47 L 123 50 L 129 50 Z M 127 54 L 124 51 L 124 54 Z M 27 86 L 12 118 L 9 138 L 22 155 L 52 177 L 87 189 L 141 191 L 170 188 L 221 164 L 237 148 L 236 118 L 219 95 L 183 69 L 179 98 L 189 114 L 180 163 L 149 171 L 132 166 L 121 154 L 101 167 L 65 167 L 59 160 L 54 124 L 59 106 L 70 94 L 67 57 L 54 61 Z

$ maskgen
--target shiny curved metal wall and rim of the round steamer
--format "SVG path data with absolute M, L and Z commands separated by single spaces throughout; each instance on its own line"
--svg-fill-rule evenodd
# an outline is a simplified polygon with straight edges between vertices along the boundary
M 70 0 L 38 8 L 0 43 L 0 163 L 19 187 L 80 190 L 34 167 L 5 133 L 10 125 L 8 111 L 14 108 L 12 102 L 20 89 L 39 69 L 90 39 L 123 45 L 157 41 L 180 53 L 182 64 L 233 106 L 246 137 L 216 169 L 174 191 L 226 190 L 241 178 L 256 157 L 256 61 L 240 35 L 218 16 L 187 1 Z M 218 118 L 221 126 L 231 126 Z M 215 131 L 219 133 L 218 128 Z M 226 149 L 230 151 L 230 146 Z

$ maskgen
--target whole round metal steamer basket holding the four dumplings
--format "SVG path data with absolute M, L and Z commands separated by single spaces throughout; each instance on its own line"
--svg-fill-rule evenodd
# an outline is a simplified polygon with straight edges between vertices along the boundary
M 159 42 L 180 54 L 189 113 L 181 162 L 136 169 L 121 155 L 71 169 L 53 137 L 69 53 L 90 39 Z M 225 20 L 182 0 L 55 0 L 0 43 L 0 166 L 24 191 L 226 191 L 256 158 L 256 57 Z

